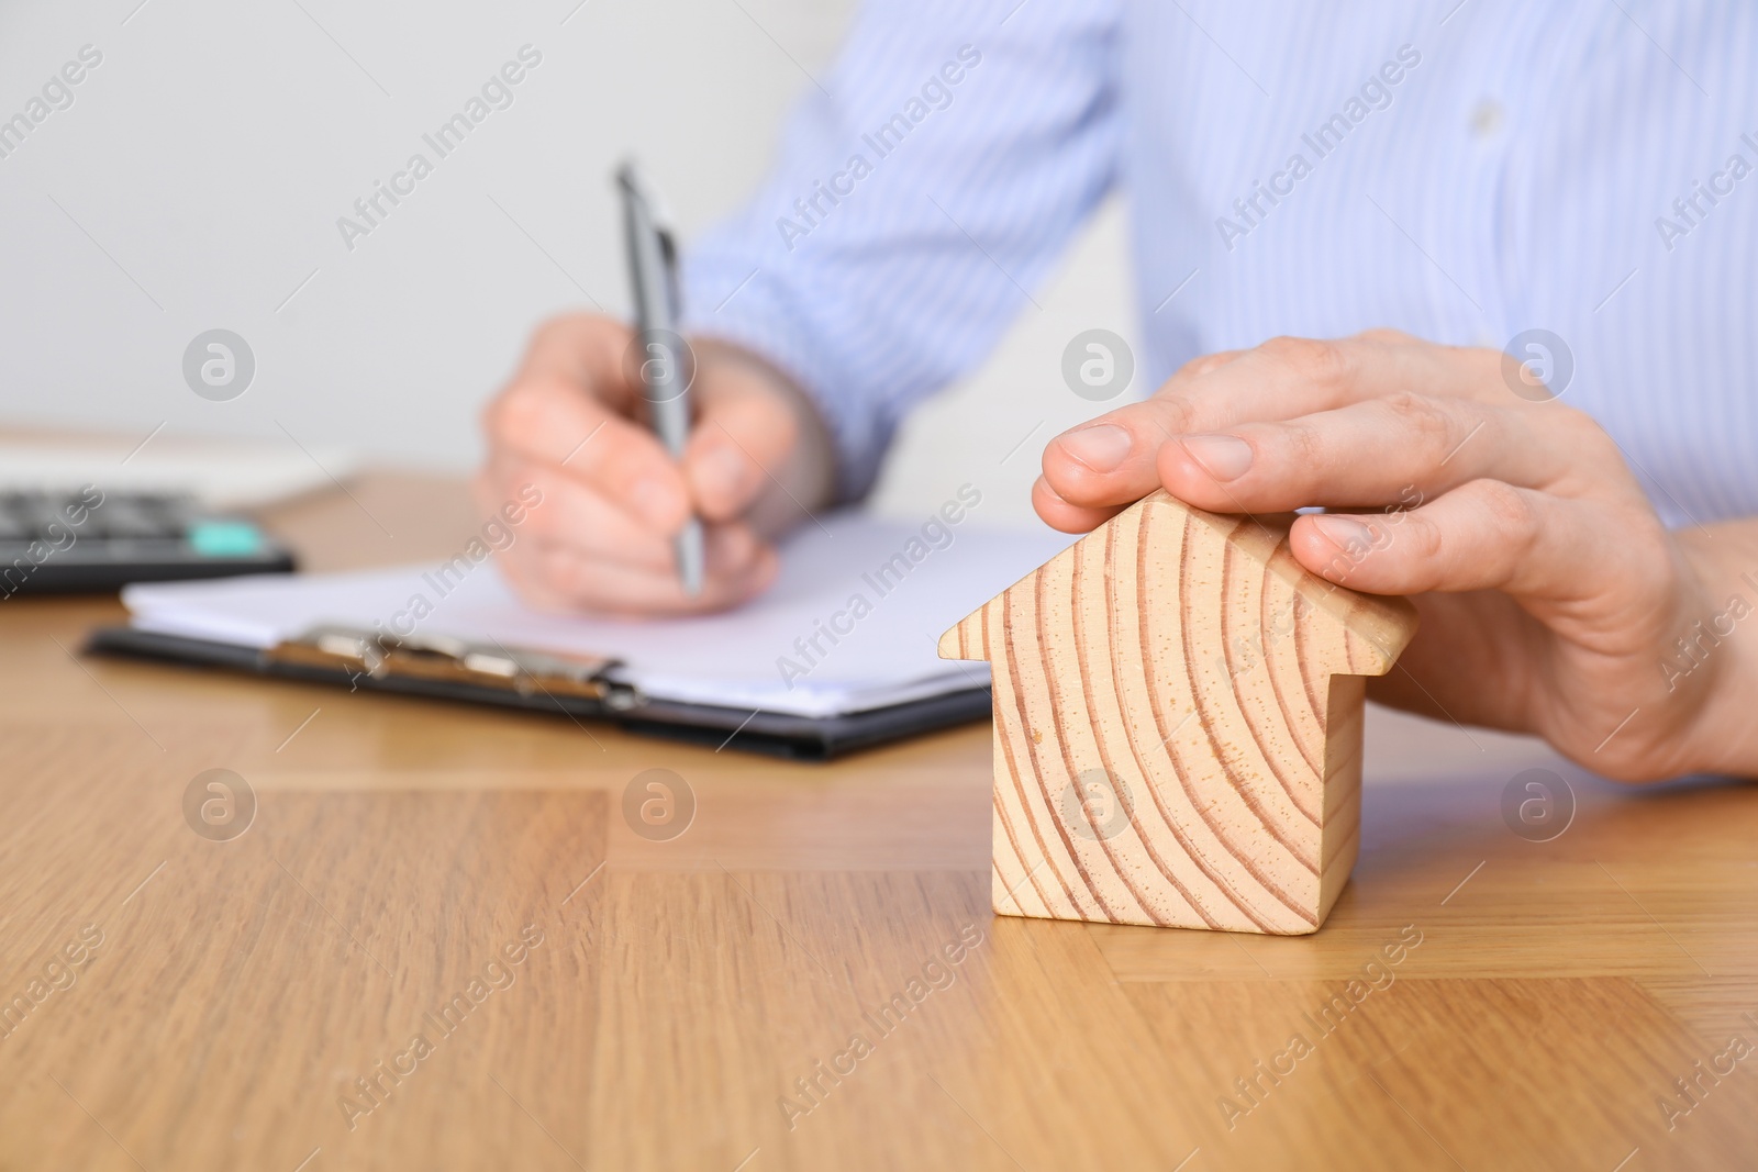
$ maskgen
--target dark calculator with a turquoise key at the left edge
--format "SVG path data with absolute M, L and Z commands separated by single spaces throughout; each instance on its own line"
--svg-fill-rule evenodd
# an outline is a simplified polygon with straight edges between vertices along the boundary
M 0 599 L 292 569 L 292 552 L 253 522 L 188 496 L 0 490 Z

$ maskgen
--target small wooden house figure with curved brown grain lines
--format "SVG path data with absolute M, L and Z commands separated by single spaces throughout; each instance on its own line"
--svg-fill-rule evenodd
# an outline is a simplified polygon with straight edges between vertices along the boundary
M 995 694 L 1002 915 L 1299 935 L 1355 863 L 1366 678 L 1415 634 L 1292 517 L 1136 503 L 941 636 Z

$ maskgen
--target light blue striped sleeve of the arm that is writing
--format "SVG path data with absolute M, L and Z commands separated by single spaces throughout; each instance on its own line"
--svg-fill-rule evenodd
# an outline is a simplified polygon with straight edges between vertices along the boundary
M 1014 7 L 1018 5 L 1018 7 Z M 872 0 L 758 193 L 684 264 L 686 329 L 791 374 L 858 499 L 1118 169 L 1113 0 Z

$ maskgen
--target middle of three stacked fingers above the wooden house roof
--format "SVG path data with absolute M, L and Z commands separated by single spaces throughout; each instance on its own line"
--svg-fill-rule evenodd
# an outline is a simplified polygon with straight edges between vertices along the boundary
M 1180 436 L 1162 445 L 1157 467 L 1180 501 L 1275 513 L 1412 504 L 1480 478 L 1547 488 L 1568 455 L 1515 413 L 1398 392 L 1285 422 Z

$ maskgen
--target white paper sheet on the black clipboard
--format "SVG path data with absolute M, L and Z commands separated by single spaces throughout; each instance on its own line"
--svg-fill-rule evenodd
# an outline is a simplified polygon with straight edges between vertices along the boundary
M 621 676 L 654 698 L 825 717 L 988 684 L 988 664 L 939 659 L 935 640 L 1072 541 L 983 531 L 969 517 L 912 527 L 844 511 L 821 522 L 788 541 L 766 594 L 700 619 L 531 611 L 492 559 L 468 555 L 450 568 L 142 583 L 123 603 L 135 627 L 241 647 L 332 622 L 615 655 Z

